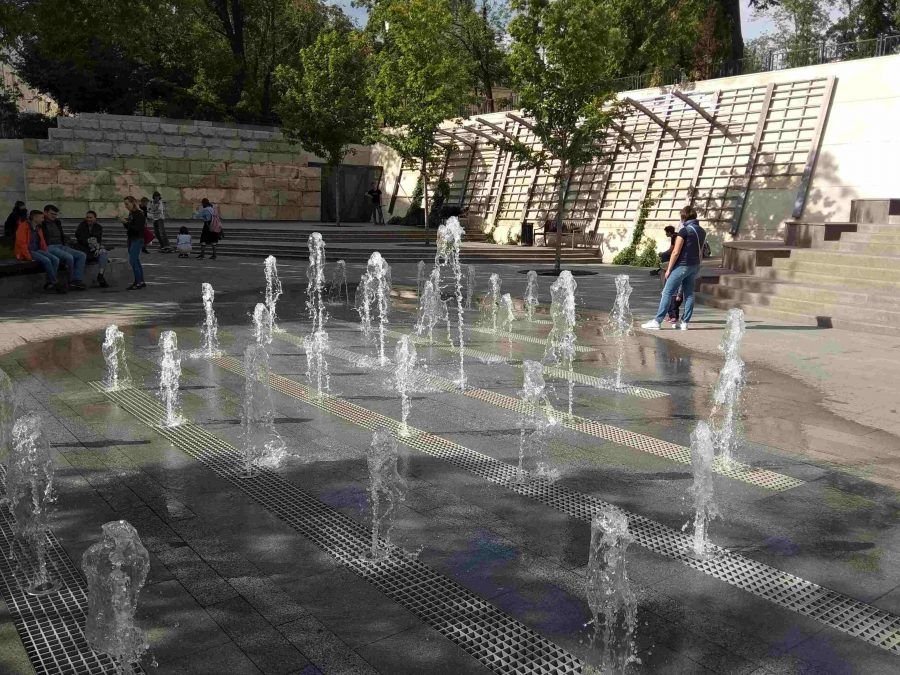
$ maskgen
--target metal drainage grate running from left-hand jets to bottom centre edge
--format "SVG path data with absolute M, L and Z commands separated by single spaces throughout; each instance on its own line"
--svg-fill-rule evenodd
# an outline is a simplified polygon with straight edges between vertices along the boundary
M 236 362 L 231 357 L 213 359 L 213 362 L 227 362 L 233 367 L 231 361 Z M 238 478 L 243 461 L 234 446 L 194 424 L 160 425 L 164 411 L 152 396 L 136 389 L 108 392 L 100 383 L 92 382 L 91 385 L 240 488 L 492 671 L 510 675 L 581 672 L 581 663 L 569 652 L 455 581 L 408 557 L 402 549 L 392 547 L 389 557 L 383 561 L 367 559 L 371 534 L 366 528 L 317 501 L 277 473 L 262 470 L 252 480 Z

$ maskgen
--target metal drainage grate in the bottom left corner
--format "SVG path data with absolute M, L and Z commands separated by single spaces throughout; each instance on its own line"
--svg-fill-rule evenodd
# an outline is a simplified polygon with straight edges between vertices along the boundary
M 5 477 L 4 468 L 0 470 L 0 479 Z M 10 557 L 15 540 L 14 522 L 9 506 L 4 504 L 0 507 L 0 593 L 35 672 L 38 675 L 120 672 L 109 656 L 93 651 L 85 640 L 87 584 L 52 532 L 47 533 L 47 566 L 60 588 L 41 597 L 23 590 L 32 568 L 26 563 L 25 571 L 19 571 L 16 561 Z M 144 670 L 138 664 L 131 664 L 131 672 Z

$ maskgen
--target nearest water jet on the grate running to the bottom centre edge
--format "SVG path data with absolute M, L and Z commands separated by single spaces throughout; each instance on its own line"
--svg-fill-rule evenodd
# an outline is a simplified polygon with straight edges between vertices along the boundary
M 376 429 L 366 459 L 372 507 L 370 555 L 375 560 L 384 560 L 390 555 L 395 511 L 399 503 L 406 500 L 406 481 L 397 470 L 397 439 L 387 429 Z

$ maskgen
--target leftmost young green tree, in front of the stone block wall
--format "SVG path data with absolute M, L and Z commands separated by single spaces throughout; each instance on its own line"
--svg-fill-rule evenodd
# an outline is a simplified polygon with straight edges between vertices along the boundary
M 371 127 L 366 91 L 369 47 L 359 33 L 329 31 L 300 52 L 301 68 L 281 65 L 275 77 L 285 134 L 324 158 L 335 172 L 335 212 L 341 224 L 340 165 Z

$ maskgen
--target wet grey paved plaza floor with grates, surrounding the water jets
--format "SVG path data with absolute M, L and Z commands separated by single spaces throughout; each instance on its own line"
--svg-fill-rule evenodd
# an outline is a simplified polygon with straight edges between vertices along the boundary
M 331 386 L 319 399 L 303 347 L 306 264 L 279 264 L 270 385 L 288 456 L 241 480 L 230 458 L 262 260 L 151 255 L 145 269 L 144 292 L 119 283 L 5 299 L 0 368 L 51 442 L 60 568 L 79 566 L 115 519 L 134 525 L 150 553 L 138 609 L 147 672 L 581 672 L 590 515 L 604 503 L 628 514 L 635 536 L 626 566 L 639 662 L 629 672 L 897 672 L 900 340 L 748 320 L 744 440 L 735 468 L 714 474 L 720 516 L 710 537 L 723 550 L 698 561 L 683 531 L 693 520 L 690 436 L 710 414 L 725 313 L 699 307 L 686 332 L 637 330 L 624 359 L 631 387 L 613 390 L 605 382 L 616 351 L 602 331 L 613 276 L 632 275 L 636 325 L 660 284 L 612 266 L 576 277 L 572 416 L 562 414 L 565 380 L 547 377 L 562 420 L 547 440 L 559 478 L 520 485 L 508 477 L 522 362 L 541 359 L 549 332 L 553 277 L 541 276 L 538 320 L 519 308 L 509 337 L 479 330 L 478 313 L 466 313 L 465 394 L 451 386 L 458 353 L 444 327 L 434 344 L 416 345 L 412 433 L 399 439 L 408 486 L 392 534 L 399 548 L 375 564 L 359 554 L 371 520 L 366 453 L 374 429 L 396 429 L 400 402 L 356 313 L 328 306 Z M 362 271 L 348 266 L 351 299 Z M 503 291 L 522 298 L 525 268 L 476 271 L 479 293 L 497 271 Z M 393 266 L 391 355 L 415 321 L 415 277 L 415 265 Z M 204 281 L 216 289 L 224 352 L 212 359 L 190 354 Z M 134 387 L 125 392 L 95 386 L 109 323 L 126 334 Z M 177 332 L 182 350 L 178 431 L 159 427 L 163 330 Z M 0 670 L 32 672 L 24 619 L 7 606 L 2 620 Z

